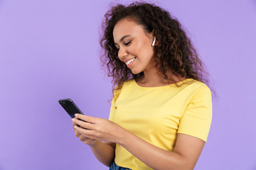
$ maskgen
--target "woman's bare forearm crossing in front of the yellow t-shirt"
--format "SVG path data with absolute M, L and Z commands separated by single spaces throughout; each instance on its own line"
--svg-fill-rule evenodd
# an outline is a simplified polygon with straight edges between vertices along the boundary
M 123 140 L 120 141 L 119 145 L 122 145 L 122 147 L 152 169 L 171 170 L 188 168 L 186 167 L 186 161 L 180 154 L 151 145 L 129 131 L 126 131 L 124 134 Z

